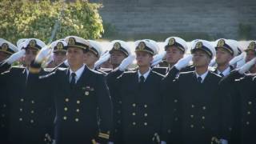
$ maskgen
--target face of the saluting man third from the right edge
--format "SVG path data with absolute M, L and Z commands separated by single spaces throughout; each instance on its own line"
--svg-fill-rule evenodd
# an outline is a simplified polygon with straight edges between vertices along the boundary
M 205 51 L 196 50 L 193 54 L 192 61 L 195 67 L 209 66 L 210 57 L 208 56 L 208 54 L 206 54 Z

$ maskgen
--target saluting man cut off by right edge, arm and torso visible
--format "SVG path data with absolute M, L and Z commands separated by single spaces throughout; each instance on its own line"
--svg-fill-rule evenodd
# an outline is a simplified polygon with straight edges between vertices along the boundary
M 231 143 L 254 143 L 255 123 L 254 123 L 254 76 L 255 74 L 246 74 L 251 67 L 255 67 L 256 58 L 246 62 L 244 66 L 233 70 L 230 75 L 223 78 L 222 86 L 231 86 L 233 89 L 225 91 L 227 96 L 232 98 L 233 126 L 231 133 Z

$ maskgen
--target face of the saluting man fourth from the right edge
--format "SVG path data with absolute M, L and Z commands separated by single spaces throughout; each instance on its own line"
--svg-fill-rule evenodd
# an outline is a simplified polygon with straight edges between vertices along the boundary
M 183 55 L 182 50 L 175 46 L 170 46 L 166 49 L 166 62 L 175 64 L 179 59 L 183 58 Z

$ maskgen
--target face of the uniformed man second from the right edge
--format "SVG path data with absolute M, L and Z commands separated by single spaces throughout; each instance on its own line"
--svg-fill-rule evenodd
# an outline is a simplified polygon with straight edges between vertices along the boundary
M 232 58 L 233 58 L 232 55 L 227 50 L 224 50 L 221 47 L 219 47 L 216 50 L 216 62 L 218 66 L 225 66 L 230 62 Z

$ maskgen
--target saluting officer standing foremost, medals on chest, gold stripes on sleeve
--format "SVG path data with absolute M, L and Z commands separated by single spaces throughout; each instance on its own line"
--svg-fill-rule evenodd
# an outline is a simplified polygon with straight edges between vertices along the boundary
M 76 36 L 66 37 L 65 41 L 69 68 L 59 68 L 40 77 L 42 83 L 50 87 L 46 91 L 54 97 L 56 144 L 105 143 L 112 122 L 112 106 L 105 79 L 84 64 L 90 46 L 88 41 Z M 42 50 L 38 54 L 36 63 L 42 62 L 45 53 Z

